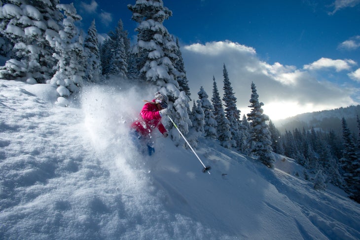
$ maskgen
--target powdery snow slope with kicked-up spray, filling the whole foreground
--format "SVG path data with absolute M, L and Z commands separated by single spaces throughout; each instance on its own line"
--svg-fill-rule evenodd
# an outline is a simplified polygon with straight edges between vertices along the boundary
M 64 108 L 53 91 L 0 80 L 0 239 L 360 239 L 359 204 L 287 158 L 269 169 L 200 139 L 209 175 L 160 134 L 139 154 L 129 125 L 152 92 L 84 87 Z

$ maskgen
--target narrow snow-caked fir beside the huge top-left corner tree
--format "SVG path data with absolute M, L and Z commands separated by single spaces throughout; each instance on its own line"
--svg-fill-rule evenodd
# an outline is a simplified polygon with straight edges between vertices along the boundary
M 58 104 L 67 106 L 68 98 L 72 92 L 77 92 L 81 86 L 85 75 L 83 37 L 78 36 L 78 30 L 74 24 L 81 20 L 81 16 L 76 13 L 73 4 L 58 4 L 59 10 L 64 11 L 66 18 L 63 20 L 64 29 L 58 35 L 53 36 L 53 44 L 58 59 L 56 66 L 57 72 L 49 80 L 49 83 L 58 86 Z

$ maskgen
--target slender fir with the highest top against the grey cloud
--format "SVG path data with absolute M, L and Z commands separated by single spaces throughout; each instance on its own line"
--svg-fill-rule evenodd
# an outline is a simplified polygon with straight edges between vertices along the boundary
M 240 147 L 241 140 L 240 140 L 240 129 L 239 129 L 239 123 L 240 123 L 240 110 L 236 107 L 236 97 L 235 93 L 233 91 L 233 88 L 231 86 L 231 82 L 229 80 L 229 74 L 226 70 L 225 64 L 223 66 L 223 77 L 224 77 L 224 97 L 222 100 L 224 101 L 225 106 L 225 116 L 227 120 L 230 122 L 230 132 L 232 136 L 232 146 L 233 147 Z M 241 147 L 240 147 L 241 148 Z

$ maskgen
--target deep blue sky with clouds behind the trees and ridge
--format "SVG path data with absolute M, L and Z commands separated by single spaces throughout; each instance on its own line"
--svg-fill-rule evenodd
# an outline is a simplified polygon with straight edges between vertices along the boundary
M 73 2 L 84 30 L 95 19 L 106 34 L 122 19 L 135 39 L 127 4 L 136 0 Z M 192 98 L 200 86 L 211 97 L 213 76 L 222 88 L 225 64 L 242 114 L 249 112 L 252 81 L 273 120 L 360 103 L 360 0 L 164 0 L 164 6 L 173 11 L 164 26 L 180 40 Z

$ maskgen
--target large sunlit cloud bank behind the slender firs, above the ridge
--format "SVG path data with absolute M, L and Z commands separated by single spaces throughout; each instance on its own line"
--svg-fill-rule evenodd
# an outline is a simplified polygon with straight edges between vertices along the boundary
M 222 94 L 222 70 L 225 64 L 242 115 L 250 111 L 248 106 L 252 81 L 256 85 L 259 101 L 265 104 L 264 113 L 271 119 L 358 104 L 350 97 L 356 95 L 356 89 L 319 80 L 316 77 L 319 73 L 309 69 L 297 69 L 295 66 L 285 66 L 281 63 L 266 63 L 258 58 L 252 47 L 236 42 L 196 43 L 184 46 L 181 52 L 189 87 L 192 90 L 191 98 L 198 98 L 200 86 L 211 96 L 213 76 Z M 326 66 L 330 67 L 329 71 L 335 72 L 349 70 L 348 67 L 354 63 L 352 60 L 322 60 L 307 66 Z M 343 75 L 348 80 L 346 73 Z M 284 113 L 280 114 L 279 109 Z

